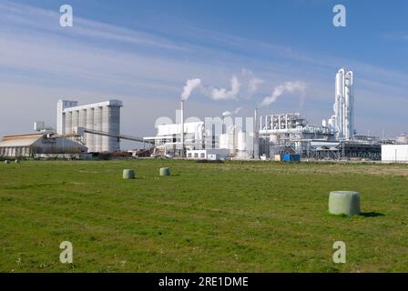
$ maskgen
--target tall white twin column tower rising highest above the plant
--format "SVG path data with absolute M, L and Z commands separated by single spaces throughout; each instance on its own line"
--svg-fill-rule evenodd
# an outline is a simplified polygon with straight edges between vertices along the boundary
M 334 115 L 329 119 L 329 127 L 339 140 L 351 140 L 354 128 L 353 73 L 341 68 L 336 74 Z

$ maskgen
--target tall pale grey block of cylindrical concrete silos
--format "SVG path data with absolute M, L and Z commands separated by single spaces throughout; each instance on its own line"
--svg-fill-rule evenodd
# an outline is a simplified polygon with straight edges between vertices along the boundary
M 122 102 L 118 100 L 88 105 L 59 100 L 56 106 L 56 132 L 58 135 L 70 135 L 75 133 L 77 127 L 89 129 L 94 132 L 84 135 L 89 152 L 116 152 L 119 150 L 119 139 L 115 136 L 120 135 L 120 107 Z

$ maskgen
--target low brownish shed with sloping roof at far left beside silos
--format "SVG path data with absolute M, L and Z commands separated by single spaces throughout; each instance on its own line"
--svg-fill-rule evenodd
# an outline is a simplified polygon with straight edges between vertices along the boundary
M 42 154 L 82 154 L 87 147 L 61 135 L 47 133 L 6 135 L 0 141 L 1 157 L 36 157 Z

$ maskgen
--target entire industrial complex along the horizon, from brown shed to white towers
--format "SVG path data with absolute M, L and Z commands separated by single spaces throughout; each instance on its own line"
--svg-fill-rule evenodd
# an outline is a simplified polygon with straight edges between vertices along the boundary
M 199 85 L 195 79 L 193 85 Z M 0 156 L 34 156 L 68 153 L 116 153 L 120 140 L 143 143 L 148 156 L 206 160 L 352 160 L 407 162 L 408 138 L 385 140 L 357 135 L 355 130 L 352 71 L 335 75 L 333 114 L 321 125 L 300 113 L 247 117 L 230 112 L 205 121 L 186 122 L 187 98 L 181 97 L 179 122 L 156 125 L 154 136 L 121 135 L 119 100 L 78 105 L 59 100 L 56 130 L 36 122 L 36 134 L 9 135 L 0 141 Z M 189 88 L 189 94 L 192 88 Z M 184 93 L 183 93 L 184 95 Z

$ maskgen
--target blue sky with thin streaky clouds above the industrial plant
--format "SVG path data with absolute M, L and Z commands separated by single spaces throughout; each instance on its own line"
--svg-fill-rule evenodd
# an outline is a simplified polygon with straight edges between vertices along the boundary
M 72 5 L 74 27 L 59 26 Z M 333 5 L 347 8 L 347 27 L 331 24 Z M 312 123 L 332 115 L 334 75 L 355 72 L 357 130 L 407 131 L 406 1 L 2 1 L 0 0 L 0 135 L 55 125 L 60 98 L 124 101 L 122 131 L 154 134 L 159 116 L 174 117 L 187 79 L 240 92 L 189 99 L 189 115 L 220 115 L 254 106 L 284 82 L 305 92 L 283 95 L 262 113 L 299 111 Z M 249 92 L 251 80 L 262 80 Z M 301 95 L 301 96 L 299 96 Z

